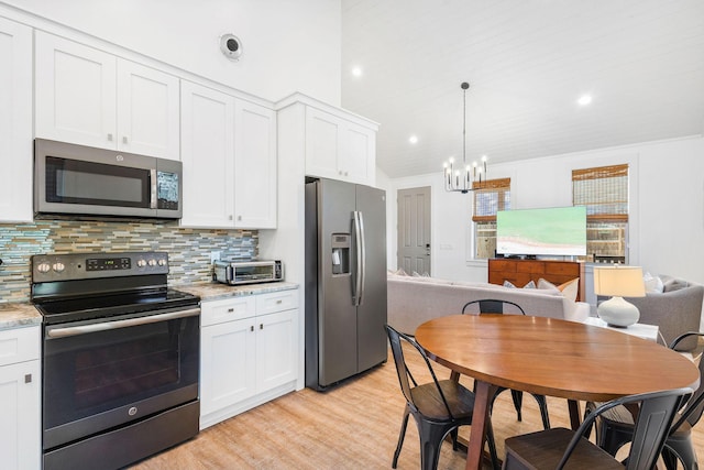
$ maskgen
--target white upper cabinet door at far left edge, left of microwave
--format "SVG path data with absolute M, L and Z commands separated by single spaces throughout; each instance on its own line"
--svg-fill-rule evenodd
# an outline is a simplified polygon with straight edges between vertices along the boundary
M 32 30 L 0 18 L 0 220 L 31 221 Z

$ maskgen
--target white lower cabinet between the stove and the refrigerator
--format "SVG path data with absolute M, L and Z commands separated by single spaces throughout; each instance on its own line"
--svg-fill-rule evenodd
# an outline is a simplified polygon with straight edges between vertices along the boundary
M 298 291 L 205 300 L 200 428 L 296 386 Z

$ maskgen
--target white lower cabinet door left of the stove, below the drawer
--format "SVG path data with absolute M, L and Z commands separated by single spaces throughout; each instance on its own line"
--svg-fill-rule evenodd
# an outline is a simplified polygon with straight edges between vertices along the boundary
M 41 468 L 40 378 L 38 360 L 0 367 L 0 456 L 4 469 Z

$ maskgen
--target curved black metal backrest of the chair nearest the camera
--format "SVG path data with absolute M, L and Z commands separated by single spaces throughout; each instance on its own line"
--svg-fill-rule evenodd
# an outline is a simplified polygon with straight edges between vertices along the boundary
M 626 470 L 650 470 L 654 468 L 668 437 L 674 414 L 691 395 L 692 389 L 675 389 L 624 396 L 603 404 L 584 418 L 562 456 L 557 470 L 561 470 L 564 467 L 580 439 L 583 439 L 582 436 L 586 435 L 585 433 L 591 429 L 594 420 L 601 414 L 615 406 L 629 404 L 640 404 L 640 406 L 636 417 Z

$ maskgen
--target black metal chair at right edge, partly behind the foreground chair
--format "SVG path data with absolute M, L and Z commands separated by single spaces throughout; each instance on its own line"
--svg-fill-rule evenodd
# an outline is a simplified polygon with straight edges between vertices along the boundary
M 689 331 L 676 337 L 669 346 L 675 349 L 678 343 L 692 336 L 704 336 L 704 332 Z M 704 359 L 704 358 L 703 358 Z M 704 360 L 700 360 L 700 386 L 690 401 L 679 411 L 662 449 L 662 460 L 668 470 L 673 470 L 678 461 L 682 462 L 685 470 L 697 469 L 698 462 L 694 444 L 692 442 L 692 428 L 698 423 L 704 412 Z M 585 412 L 588 414 L 597 404 L 588 402 Z M 634 420 L 630 413 L 622 407 L 605 413 L 596 420 L 596 442 L 612 456 L 625 444 L 630 442 L 634 436 Z

